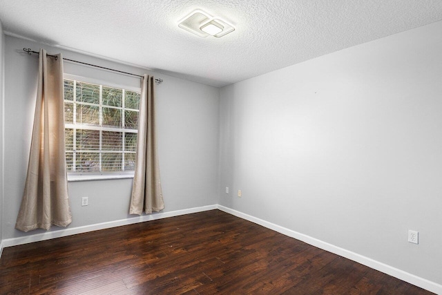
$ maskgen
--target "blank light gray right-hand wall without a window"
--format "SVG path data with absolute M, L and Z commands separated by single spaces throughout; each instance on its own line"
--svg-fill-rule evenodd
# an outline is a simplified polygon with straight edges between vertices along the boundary
M 441 53 L 440 21 L 222 88 L 218 203 L 442 284 Z

